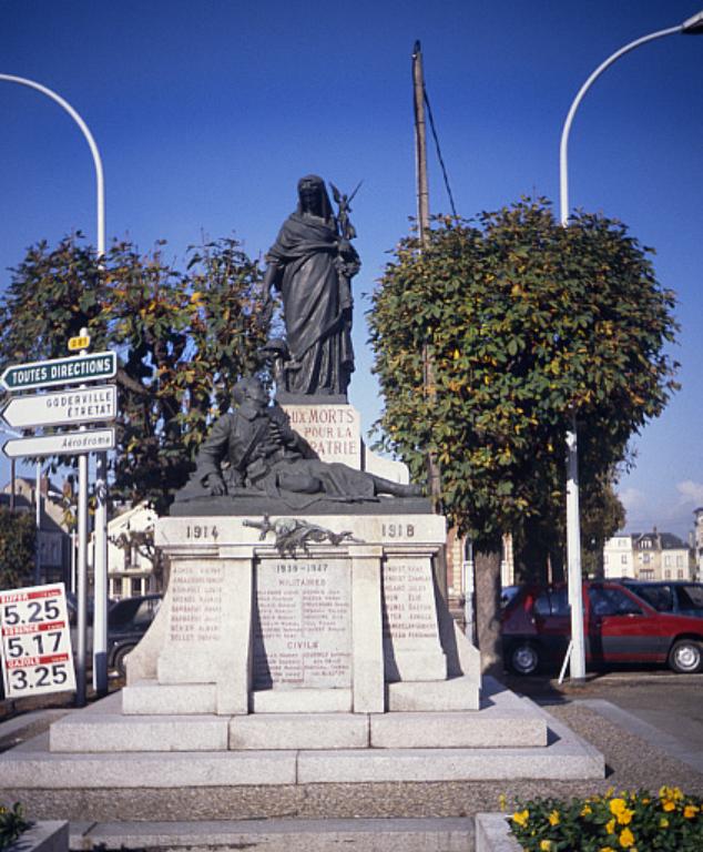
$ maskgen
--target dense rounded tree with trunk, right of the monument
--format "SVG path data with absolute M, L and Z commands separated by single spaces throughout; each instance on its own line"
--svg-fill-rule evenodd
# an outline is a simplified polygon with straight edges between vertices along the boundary
M 373 296 L 380 444 L 417 478 L 436 453 L 445 510 L 475 542 L 489 666 L 501 535 L 563 530 L 571 412 L 581 487 L 597 499 L 675 387 L 664 352 L 674 296 L 648 251 L 619 222 L 580 214 L 563 229 L 544 200 L 523 200 L 477 222 L 437 219 L 422 247 L 401 240 Z M 434 394 L 422 393 L 424 344 Z

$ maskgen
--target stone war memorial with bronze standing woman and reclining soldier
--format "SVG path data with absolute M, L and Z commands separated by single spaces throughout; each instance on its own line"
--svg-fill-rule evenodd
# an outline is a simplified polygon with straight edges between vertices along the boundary
M 357 784 L 603 777 L 598 751 L 481 678 L 435 579 L 445 518 L 364 446 L 347 400 L 360 263 L 334 194 L 336 215 L 302 179 L 266 255 L 286 332 L 267 346 L 275 390 L 232 388 L 159 520 L 170 584 L 126 686 L 0 755 L 0 794 L 37 815 L 119 819 L 136 791 L 131 819 L 194 820 L 164 794 L 211 790 L 251 819 L 272 813 L 266 791 L 309 785 L 350 800 Z

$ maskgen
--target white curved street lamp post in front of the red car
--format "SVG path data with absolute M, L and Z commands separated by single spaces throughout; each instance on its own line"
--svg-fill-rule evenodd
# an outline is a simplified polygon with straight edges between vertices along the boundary
M 646 44 L 654 39 L 662 39 L 665 36 L 675 36 L 682 33 L 695 36 L 703 33 L 703 11 L 697 12 L 683 23 L 676 27 L 670 27 L 665 30 L 651 32 L 641 39 L 635 39 L 617 50 L 602 62 L 595 71 L 588 78 L 573 99 L 563 129 L 561 131 L 561 144 L 559 149 L 559 197 L 561 224 L 567 227 L 569 224 L 569 132 L 573 116 L 598 78 L 610 68 L 620 57 L 629 53 L 631 50 Z M 585 679 L 585 643 L 583 638 L 583 587 L 581 579 L 581 524 L 579 516 L 579 450 L 577 433 L 575 410 L 571 413 L 571 426 L 567 432 L 567 561 L 569 575 L 569 602 L 571 604 L 571 646 L 570 646 L 570 678 L 574 682 L 582 682 Z M 566 663 L 564 663 L 566 666 Z

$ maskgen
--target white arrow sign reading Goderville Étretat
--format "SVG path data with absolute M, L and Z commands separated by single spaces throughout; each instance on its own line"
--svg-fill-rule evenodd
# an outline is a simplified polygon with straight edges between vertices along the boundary
M 16 429 L 68 423 L 108 423 L 118 416 L 118 387 L 93 385 L 53 394 L 16 396 L 0 415 Z

